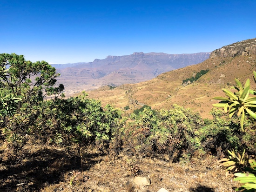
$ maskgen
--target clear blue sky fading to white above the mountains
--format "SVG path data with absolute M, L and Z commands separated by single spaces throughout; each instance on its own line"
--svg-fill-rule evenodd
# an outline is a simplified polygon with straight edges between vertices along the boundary
M 0 53 L 50 64 L 256 38 L 256 0 L 0 0 L 0 10 Z

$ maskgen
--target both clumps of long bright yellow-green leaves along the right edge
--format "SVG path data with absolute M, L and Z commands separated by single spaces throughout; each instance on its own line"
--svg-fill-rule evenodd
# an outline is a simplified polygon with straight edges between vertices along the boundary
M 256 82 L 256 72 L 254 71 L 253 74 Z M 237 86 L 231 88 L 235 88 L 237 92 L 232 93 L 230 90 L 222 89 L 228 98 L 215 97 L 214 99 L 221 100 L 221 102 L 215 104 L 214 106 L 224 108 L 224 112 L 229 113 L 229 118 L 231 118 L 235 113 L 237 114 L 237 116 L 240 116 L 242 114 L 242 117 L 240 119 L 240 126 L 242 131 L 245 132 L 243 136 L 248 137 L 248 129 L 244 130 L 243 126 L 246 115 L 248 115 L 253 120 L 253 123 L 256 119 L 256 97 L 249 97 L 249 94 L 256 95 L 256 91 L 250 89 L 249 79 L 247 79 L 244 87 L 242 86 L 241 82 L 238 79 L 235 79 L 235 81 Z M 255 126 L 253 126 L 253 129 L 255 133 Z M 251 140 L 250 143 L 253 143 L 254 141 Z M 220 162 L 224 161 L 221 165 L 228 167 L 227 171 L 234 170 L 235 168 L 236 170 L 240 171 L 238 173 L 235 173 L 235 176 L 237 176 L 237 178 L 234 180 L 238 180 L 240 181 L 240 183 L 243 183 L 244 185 L 242 185 L 240 188 L 237 188 L 236 191 L 256 191 L 256 161 L 254 159 L 248 160 L 248 156 L 245 156 L 245 150 L 243 151 L 242 155 L 240 155 L 239 153 L 238 155 L 236 155 L 234 150 L 232 152 L 228 152 L 231 155 L 229 156 L 229 159 L 224 158 L 221 159 Z M 248 163 L 250 164 L 250 167 L 247 166 Z

